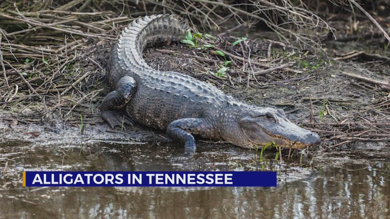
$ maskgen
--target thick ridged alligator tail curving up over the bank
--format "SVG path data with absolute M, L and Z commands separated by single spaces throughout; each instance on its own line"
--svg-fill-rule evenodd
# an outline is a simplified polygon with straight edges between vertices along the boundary
M 133 21 L 121 32 L 112 49 L 107 65 L 110 86 L 115 88 L 117 81 L 125 74 L 156 72 L 145 62 L 142 51 L 156 42 L 184 39 L 186 27 L 186 21 L 173 14 L 144 16 Z

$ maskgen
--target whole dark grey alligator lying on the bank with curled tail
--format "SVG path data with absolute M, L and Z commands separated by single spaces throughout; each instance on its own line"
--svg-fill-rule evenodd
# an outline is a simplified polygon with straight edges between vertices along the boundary
M 115 126 L 138 123 L 166 131 L 194 154 L 194 136 L 227 141 L 243 148 L 302 149 L 320 143 L 318 134 L 287 119 L 283 109 L 263 108 L 238 101 L 191 76 L 158 71 L 142 57 L 147 46 L 180 41 L 187 22 L 176 15 L 144 16 L 133 21 L 113 46 L 106 80 L 113 88 L 101 103 L 101 117 Z

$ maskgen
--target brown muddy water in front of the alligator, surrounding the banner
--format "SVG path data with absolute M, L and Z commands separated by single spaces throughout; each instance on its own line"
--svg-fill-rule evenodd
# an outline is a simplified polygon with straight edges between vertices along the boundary
M 275 151 L 267 151 L 265 170 L 279 171 L 276 188 L 22 188 L 23 170 L 261 168 L 254 151 L 228 145 L 200 143 L 198 154 L 188 161 L 180 159 L 182 148 L 158 134 L 146 132 L 146 139 L 142 132 L 115 134 L 105 126 L 78 131 L 2 127 L 0 218 L 390 218 L 388 162 L 318 153 L 313 159 L 304 155 L 302 161 L 293 155 L 285 172 L 286 162 L 269 165 Z

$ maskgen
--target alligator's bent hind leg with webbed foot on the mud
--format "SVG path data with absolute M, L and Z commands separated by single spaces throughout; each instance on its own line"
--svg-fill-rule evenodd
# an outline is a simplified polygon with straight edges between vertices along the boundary
M 126 106 L 135 94 L 137 83 L 134 78 L 124 76 L 116 86 L 116 90 L 110 92 L 100 105 L 101 117 L 113 129 L 115 125 L 122 127 L 123 124 L 133 125 L 133 120 L 123 113 L 121 108 Z

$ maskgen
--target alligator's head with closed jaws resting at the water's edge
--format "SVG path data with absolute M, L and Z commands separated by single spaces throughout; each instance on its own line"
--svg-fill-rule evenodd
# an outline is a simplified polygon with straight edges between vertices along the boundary
M 234 131 L 225 139 L 240 147 L 263 147 L 274 141 L 278 147 L 301 149 L 320 143 L 317 133 L 290 122 L 283 109 L 255 107 L 241 111 L 235 120 Z

